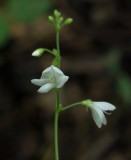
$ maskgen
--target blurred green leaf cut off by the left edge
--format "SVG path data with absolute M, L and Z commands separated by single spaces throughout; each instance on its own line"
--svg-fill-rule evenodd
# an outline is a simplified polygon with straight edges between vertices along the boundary
M 6 18 L 0 15 L 0 47 L 3 47 L 9 38 L 9 25 Z

